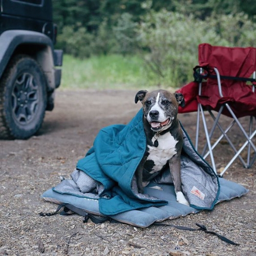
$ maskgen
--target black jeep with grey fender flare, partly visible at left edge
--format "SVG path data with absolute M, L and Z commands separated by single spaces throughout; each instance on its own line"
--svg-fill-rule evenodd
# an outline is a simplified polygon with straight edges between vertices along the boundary
M 54 106 L 62 51 L 51 0 L 0 0 L 0 138 L 27 139 Z

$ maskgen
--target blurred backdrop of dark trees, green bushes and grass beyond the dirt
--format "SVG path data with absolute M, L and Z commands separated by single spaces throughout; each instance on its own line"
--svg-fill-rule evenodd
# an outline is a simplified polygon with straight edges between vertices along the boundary
M 193 80 L 199 44 L 256 47 L 254 0 L 52 2 L 63 87 L 177 88 Z

